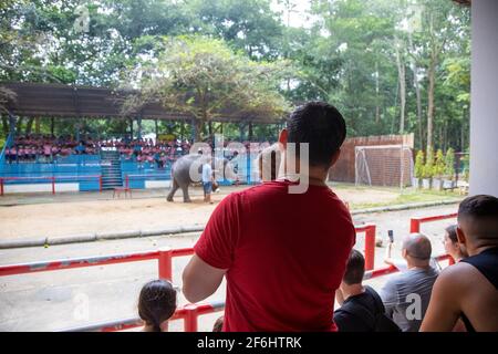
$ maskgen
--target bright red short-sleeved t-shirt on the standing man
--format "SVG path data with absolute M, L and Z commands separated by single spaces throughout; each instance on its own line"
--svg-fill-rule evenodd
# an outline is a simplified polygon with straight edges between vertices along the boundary
M 351 215 L 330 188 L 289 194 L 290 184 L 227 196 L 194 248 L 228 269 L 224 331 L 336 331 L 334 294 L 355 242 Z

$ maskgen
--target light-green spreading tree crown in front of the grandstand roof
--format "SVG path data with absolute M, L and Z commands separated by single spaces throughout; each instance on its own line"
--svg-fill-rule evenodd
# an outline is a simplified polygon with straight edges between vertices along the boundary
M 279 119 L 289 106 L 278 88 L 284 62 L 252 62 L 222 41 L 199 37 L 164 38 L 157 61 L 132 71 L 141 90 L 125 102 L 127 112 L 160 102 L 172 112 L 194 117 L 196 140 L 205 123 L 221 116 Z M 133 77 L 135 75 L 135 77 Z M 142 76 L 138 81 L 136 77 Z

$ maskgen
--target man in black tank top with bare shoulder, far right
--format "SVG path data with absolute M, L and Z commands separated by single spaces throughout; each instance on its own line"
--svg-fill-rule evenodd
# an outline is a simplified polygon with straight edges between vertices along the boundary
M 421 331 L 449 332 L 461 317 L 469 332 L 498 332 L 498 198 L 461 201 L 457 236 L 469 257 L 437 278 Z

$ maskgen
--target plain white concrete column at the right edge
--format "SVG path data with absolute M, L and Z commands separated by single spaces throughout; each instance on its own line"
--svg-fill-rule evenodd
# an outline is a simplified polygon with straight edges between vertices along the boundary
M 471 2 L 470 195 L 498 197 L 498 1 Z

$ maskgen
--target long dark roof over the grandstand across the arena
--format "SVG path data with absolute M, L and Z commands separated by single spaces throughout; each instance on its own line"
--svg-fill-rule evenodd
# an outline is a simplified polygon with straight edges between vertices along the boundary
M 7 104 L 17 116 L 49 116 L 64 118 L 141 118 L 191 122 L 193 116 L 166 111 L 159 103 L 148 103 L 141 110 L 123 114 L 124 100 L 136 91 L 103 87 L 74 86 L 45 83 L 0 83 L 15 93 L 15 100 Z M 226 112 L 212 122 L 278 124 L 282 118 L 258 115 L 240 115 Z

